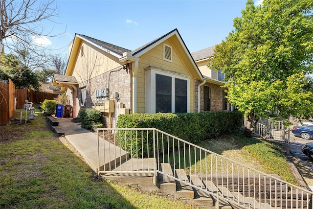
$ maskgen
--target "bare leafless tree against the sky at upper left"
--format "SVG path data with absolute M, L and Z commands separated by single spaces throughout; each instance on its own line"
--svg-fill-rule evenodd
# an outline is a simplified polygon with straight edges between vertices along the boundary
M 62 35 L 45 28 L 56 12 L 56 0 L 0 0 L 0 43 L 11 53 L 22 55 L 20 60 L 28 69 L 45 68 L 50 54 L 45 45 L 34 40 Z

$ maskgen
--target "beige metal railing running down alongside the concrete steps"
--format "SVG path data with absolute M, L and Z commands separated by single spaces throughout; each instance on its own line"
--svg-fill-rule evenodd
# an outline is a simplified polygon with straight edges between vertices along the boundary
M 227 203 L 246 209 L 312 209 L 312 191 L 155 128 L 97 129 L 97 135 L 100 175 L 146 174 L 155 184 L 162 175 L 208 194 L 217 207 Z M 161 169 L 164 163 L 174 175 Z

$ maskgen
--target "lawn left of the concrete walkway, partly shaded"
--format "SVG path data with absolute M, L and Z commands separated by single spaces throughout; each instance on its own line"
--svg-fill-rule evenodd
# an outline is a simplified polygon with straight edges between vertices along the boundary
M 42 113 L 36 113 L 26 125 L 1 126 L 1 209 L 198 208 L 98 178 L 52 134 Z

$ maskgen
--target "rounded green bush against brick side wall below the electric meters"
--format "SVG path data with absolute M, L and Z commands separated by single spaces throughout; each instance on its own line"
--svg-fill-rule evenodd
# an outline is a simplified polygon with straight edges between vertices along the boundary
M 86 108 L 81 110 L 79 117 L 81 119 L 82 128 L 91 129 L 93 124 L 102 123 L 102 113 L 93 108 Z

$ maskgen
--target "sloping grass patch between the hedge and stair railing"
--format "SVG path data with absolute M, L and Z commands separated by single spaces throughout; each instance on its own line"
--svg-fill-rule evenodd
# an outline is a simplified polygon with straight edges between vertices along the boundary
M 246 167 L 237 166 L 237 163 L 232 163 L 218 156 L 222 155 L 263 173 L 276 174 L 285 181 L 298 185 L 286 160 L 285 153 L 277 144 L 261 138 L 246 138 L 242 133 L 236 133 L 231 136 L 203 140 L 197 145 L 214 152 L 214 154 L 204 150 L 200 151 L 200 149 L 195 149 L 189 145 L 182 145 L 180 152 L 176 152 L 174 157 L 171 153 L 171 157 L 165 154 L 165 162 L 174 164 L 175 159 L 175 166 L 185 169 L 188 174 L 199 174 L 200 170 L 202 174 L 248 174 L 252 172 Z

